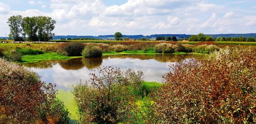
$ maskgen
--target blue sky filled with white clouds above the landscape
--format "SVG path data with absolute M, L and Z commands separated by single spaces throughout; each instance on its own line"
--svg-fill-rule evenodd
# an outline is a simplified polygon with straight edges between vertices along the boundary
M 256 33 L 256 0 L 0 0 L 0 37 L 13 15 L 52 17 L 55 35 Z

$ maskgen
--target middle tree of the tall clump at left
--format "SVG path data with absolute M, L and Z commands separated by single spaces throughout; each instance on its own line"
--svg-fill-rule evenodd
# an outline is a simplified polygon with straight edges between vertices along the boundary
M 38 18 L 37 17 L 25 17 L 24 22 L 24 33 L 29 36 L 30 41 L 38 41 Z

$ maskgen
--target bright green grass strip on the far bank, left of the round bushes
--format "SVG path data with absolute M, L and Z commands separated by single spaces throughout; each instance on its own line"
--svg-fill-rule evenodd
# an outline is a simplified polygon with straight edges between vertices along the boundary
M 44 61 L 44 60 L 67 60 L 67 59 L 73 59 L 73 58 L 81 58 L 82 56 L 76 56 L 76 57 L 69 57 L 64 56 L 62 54 L 58 53 L 46 53 L 46 54 L 40 54 L 40 55 L 25 55 L 22 57 L 22 63 L 26 62 L 38 62 L 38 61 Z

